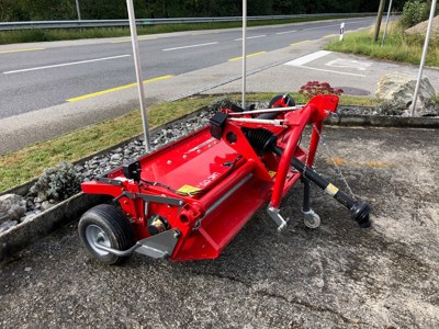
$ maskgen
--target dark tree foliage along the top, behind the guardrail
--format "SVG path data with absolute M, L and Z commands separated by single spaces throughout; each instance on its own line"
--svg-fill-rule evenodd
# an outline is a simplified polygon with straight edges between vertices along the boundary
M 248 0 L 249 15 L 375 12 L 380 0 Z M 394 1 L 402 10 L 405 1 Z M 126 19 L 125 0 L 79 0 L 81 19 Z M 136 16 L 184 18 L 241 14 L 241 0 L 134 0 Z M 0 0 L 0 21 L 76 20 L 76 0 Z

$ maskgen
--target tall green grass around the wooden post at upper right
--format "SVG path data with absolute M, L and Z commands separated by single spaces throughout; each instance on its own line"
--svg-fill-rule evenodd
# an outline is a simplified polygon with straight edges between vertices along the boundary
M 325 49 L 418 65 L 423 54 L 424 37 L 421 35 L 405 35 L 403 30 L 394 24 L 387 32 L 384 46 L 381 46 L 382 36 L 375 43 L 372 38 L 372 32 L 357 32 L 347 34 L 342 42 L 330 42 L 325 46 Z M 439 67 L 439 37 L 430 41 L 426 65 Z

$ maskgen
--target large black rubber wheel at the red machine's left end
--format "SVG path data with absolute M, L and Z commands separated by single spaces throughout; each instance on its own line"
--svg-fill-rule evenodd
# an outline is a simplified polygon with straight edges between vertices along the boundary
M 119 257 L 97 247 L 97 242 L 117 250 L 134 246 L 134 234 L 128 218 L 109 204 L 100 204 L 82 215 L 78 225 L 79 238 L 83 247 L 99 261 L 112 265 L 120 264 L 126 257 Z

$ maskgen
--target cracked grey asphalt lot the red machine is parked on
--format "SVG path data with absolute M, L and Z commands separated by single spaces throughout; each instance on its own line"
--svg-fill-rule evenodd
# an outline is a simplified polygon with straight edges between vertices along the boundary
M 324 132 L 318 171 L 346 189 L 339 163 L 373 228 L 313 188 L 307 229 L 297 185 L 281 235 L 261 211 L 216 260 L 104 266 L 74 223 L 0 265 L 0 327 L 439 328 L 438 132 Z

